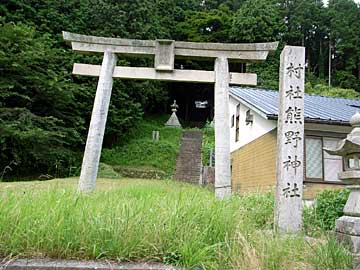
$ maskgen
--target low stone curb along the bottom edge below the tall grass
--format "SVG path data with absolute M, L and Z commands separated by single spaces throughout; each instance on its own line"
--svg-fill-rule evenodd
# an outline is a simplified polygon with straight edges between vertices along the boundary
M 175 270 L 160 263 L 115 263 L 112 261 L 76 261 L 53 259 L 1 260 L 1 270 Z

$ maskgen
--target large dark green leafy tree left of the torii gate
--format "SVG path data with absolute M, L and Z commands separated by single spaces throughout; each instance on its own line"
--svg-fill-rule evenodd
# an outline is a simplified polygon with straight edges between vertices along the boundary
M 76 90 L 52 45 L 32 27 L 0 25 L 0 168 L 17 164 L 17 174 L 68 167 L 76 160 L 68 147 L 81 143 Z

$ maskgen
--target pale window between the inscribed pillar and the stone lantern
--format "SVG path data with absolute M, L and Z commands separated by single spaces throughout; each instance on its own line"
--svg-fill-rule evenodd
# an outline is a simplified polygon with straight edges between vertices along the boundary
M 343 164 L 340 156 L 331 156 L 323 148 L 334 148 L 339 138 L 306 136 L 305 139 L 305 176 L 313 181 L 340 181 L 338 172 Z

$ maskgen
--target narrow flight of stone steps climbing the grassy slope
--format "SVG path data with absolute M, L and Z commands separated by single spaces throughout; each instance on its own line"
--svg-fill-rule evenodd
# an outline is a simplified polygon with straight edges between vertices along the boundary
M 202 170 L 202 132 L 184 131 L 176 160 L 175 180 L 198 184 Z

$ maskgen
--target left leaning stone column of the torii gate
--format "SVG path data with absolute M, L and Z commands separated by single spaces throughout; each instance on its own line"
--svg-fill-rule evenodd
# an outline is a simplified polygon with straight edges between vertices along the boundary
M 95 188 L 106 120 L 109 111 L 113 85 L 113 72 L 116 66 L 116 59 L 116 55 L 113 52 L 104 52 L 81 166 L 80 182 L 78 187 L 79 192 L 90 192 Z

